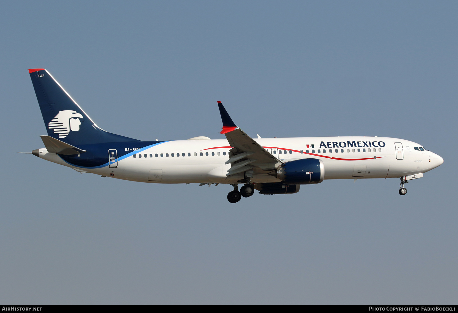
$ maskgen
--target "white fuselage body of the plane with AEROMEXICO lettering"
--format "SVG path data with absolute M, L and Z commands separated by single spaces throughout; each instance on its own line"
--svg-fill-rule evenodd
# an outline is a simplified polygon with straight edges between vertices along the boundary
M 302 158 L 322 160 L 324 179 L 400 178 L 428 172 L 443 162 L 442 157 L 431 151 L 414 149 L 421 145 L 397 138 L 344 136 L 254 140 L 282 162 Z M 126 144 L 125 149 L 134 149 L 131 145 Z M 39 157 L 80 172 L 144 183 L 236 183 L 243 179 L 243 173 L 226 176 L 231 164 L 224 163 L 229 159 L 230 149 L 226 139 L 165 141 L 140 150 L 125 150 L 131 152 L 120 157 L 116 167 L 109 167 L 107 163 L 98 168 L 76 167 L 45 148 L 40 149 Z M 279 180 L 267 174 L 255 174 L 252 182 Z

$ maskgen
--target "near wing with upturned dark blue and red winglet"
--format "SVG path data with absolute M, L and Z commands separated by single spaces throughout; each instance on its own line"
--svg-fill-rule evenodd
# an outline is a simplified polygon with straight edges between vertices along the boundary
M 229 151 L 229 160 L 226 162 L 231 163 L 227 176 L 246 171 L 265 174 L 280 166 L 282 162 L 278 158 L 234 124 L 221 101 L 218 101 L 218 108 L 223 122 L 220 134 L 226 135 L 232 147 Z

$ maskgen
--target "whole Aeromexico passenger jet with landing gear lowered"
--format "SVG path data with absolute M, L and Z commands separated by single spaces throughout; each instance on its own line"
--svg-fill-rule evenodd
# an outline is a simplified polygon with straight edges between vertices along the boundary
M 218 108 L 226 139 L 142 141 L 94 123 L 45 69 L 29 69 L 48 135 L 31 153 L 80 173 L 142 183 L 229 184 L 230 203 L 260 194 L 294 194 L 325 179 L 422 178 L 444 160 L 424 146 L 388 137 L 251 138 Z M 30 152 L 27 152 L 30 153 Z M 239 184 L 243 186 L 238 188 Z

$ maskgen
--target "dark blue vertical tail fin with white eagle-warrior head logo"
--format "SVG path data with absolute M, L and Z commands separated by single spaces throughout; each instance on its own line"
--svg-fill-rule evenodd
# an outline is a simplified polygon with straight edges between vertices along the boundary
M 102 130 L 45 69 L 30 69 L 48 135 L 73 146 L 141 141 Z

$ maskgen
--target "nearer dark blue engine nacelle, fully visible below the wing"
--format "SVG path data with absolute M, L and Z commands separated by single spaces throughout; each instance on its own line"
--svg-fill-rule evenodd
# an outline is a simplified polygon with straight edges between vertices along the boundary
M 324 164 L 319 159 L 300 159 L 285 162 L 269 174 L 286 184 L 321 183 L 324 179 Z

